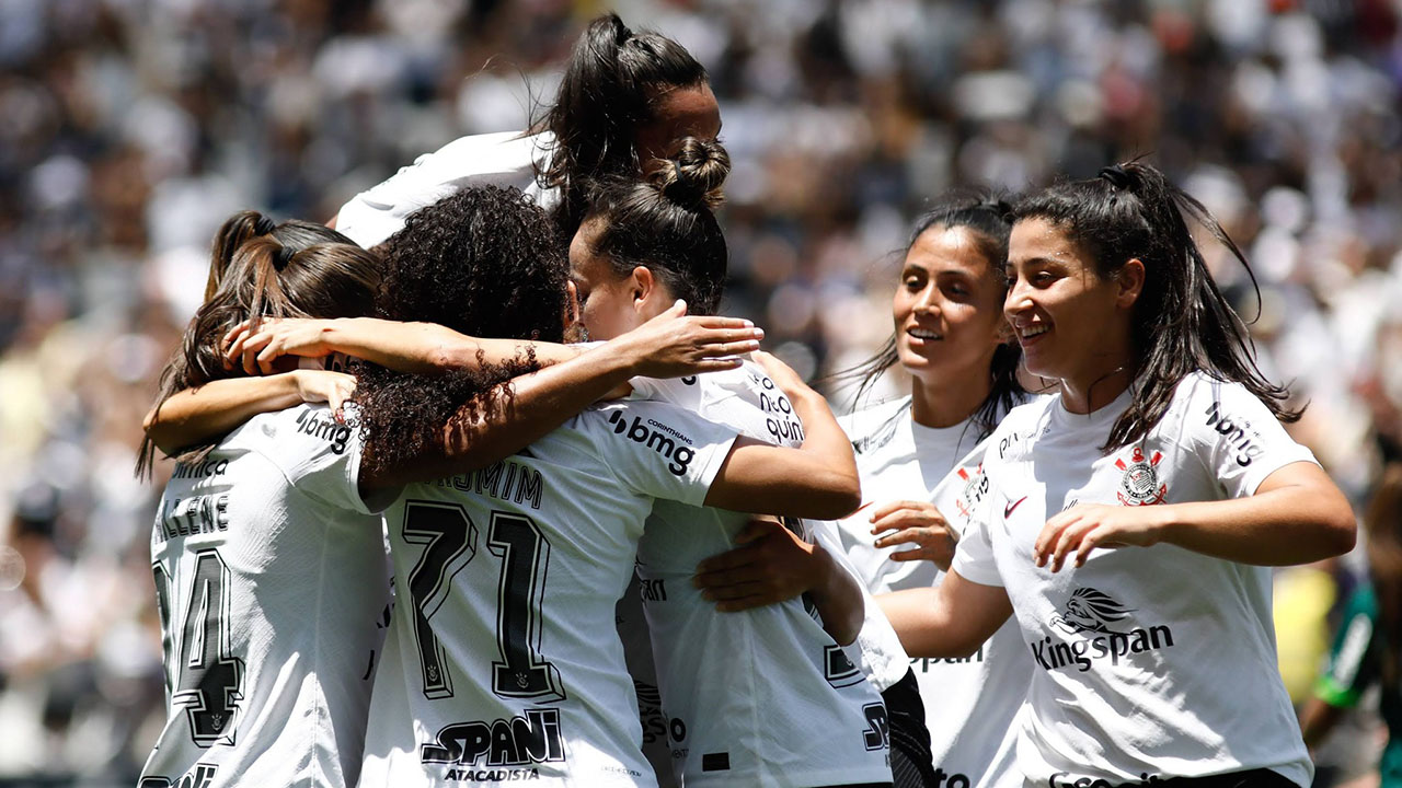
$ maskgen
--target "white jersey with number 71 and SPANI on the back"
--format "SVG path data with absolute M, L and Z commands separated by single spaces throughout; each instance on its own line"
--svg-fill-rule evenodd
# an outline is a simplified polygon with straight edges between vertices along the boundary
M 614 635 L 656 498 L 688 503 L 735 440 L 659 402 L 590 408 L 387 513 L 395 614 L 362 785 L 656 785 Z

